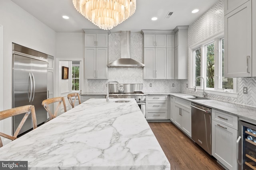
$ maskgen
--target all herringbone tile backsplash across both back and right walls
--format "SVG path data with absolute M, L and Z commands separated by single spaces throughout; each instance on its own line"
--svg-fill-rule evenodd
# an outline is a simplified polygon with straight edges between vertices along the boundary
M 224 0 L 194 21 L 188 28 L 188 47 L 202 42 L 212 35 L 224 31 Z M 121 57 L 120 33 L 109 35 L 109 63 Z M 143 62 L 143 36 L 131 33 L 131 58 Z M 120 83 L 142 83 L 144 92 L 184 92 L 201 96 L 186 88 L 188 80 L 143 80 L 143 68 L 108 68 L 108 80 L 85 80 L 86 92 L 106 92 L 106 83 L 116 80 Z M 149 84 L 152 83 L 152 87 Z M 172 84 L 174 83 L 174 87 Z M 248 87 L 248 94 L 243 94 Z M 209 94 L 210 98 L 256 106 L 256 78 L 237 78 L 238 98 Z

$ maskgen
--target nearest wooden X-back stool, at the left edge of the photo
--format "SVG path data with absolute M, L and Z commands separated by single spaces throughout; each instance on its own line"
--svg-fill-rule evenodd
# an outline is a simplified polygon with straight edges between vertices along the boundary
M 33 122 L 33 129 L 37 128 L 37 123 L 36 123 L 36 112 L 35 112 L 35 107 L 33 105 L 26 105 L 26 106 L 20 106 L 20 107 L 14 107 L 12 109 L 0 111 L 0 120 L 6 119 L 8 117 L 16 116 L 26 113 L 23 117 L 23 119 L 20 122 L 20 125 L 17 127 L 15 133 L 13 136 L 7 135 L 5 133 L 0 132 L 0 136 L 5 137 L 10 140 L 15 140 L 17 139 L 18 133 L 20 132 L 20 129 L 24 125 L 26 119 L 28 118 L 28 115 L 31 113 L 32 115 L 32 122 Z M 0 138 L 0 147 L 3 146 L 2 140 Z

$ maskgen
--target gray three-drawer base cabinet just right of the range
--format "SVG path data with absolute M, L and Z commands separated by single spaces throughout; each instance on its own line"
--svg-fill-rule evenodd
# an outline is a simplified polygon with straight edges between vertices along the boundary
M 167 95 L 146 96 L 146 119 L 168 119 Z

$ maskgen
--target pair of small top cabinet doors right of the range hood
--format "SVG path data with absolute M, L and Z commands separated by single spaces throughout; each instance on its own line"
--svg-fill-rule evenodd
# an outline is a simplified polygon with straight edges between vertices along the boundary
M 166 34 L 145 34 L 144 47 L 166 48 Z

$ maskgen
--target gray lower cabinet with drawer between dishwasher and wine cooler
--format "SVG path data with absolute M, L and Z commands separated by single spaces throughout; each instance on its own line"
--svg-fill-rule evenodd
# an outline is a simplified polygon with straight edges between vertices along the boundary
M 212 109 L 212 156 L 230 170 L 237 169 L 237 124 L 237 116 Z

